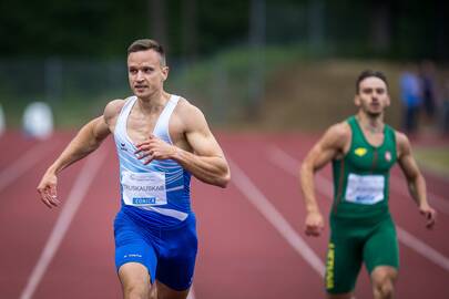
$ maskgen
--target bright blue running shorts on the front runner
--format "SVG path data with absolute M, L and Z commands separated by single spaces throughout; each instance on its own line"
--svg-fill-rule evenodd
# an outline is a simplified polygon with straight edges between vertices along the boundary
M 149 269 L 151 282 L 186 290 L 192 285 L 197 252 L 195 214 L 169 228 L 143 225 L 120 210 L 114 221 L 115 268 L 139 262 Z

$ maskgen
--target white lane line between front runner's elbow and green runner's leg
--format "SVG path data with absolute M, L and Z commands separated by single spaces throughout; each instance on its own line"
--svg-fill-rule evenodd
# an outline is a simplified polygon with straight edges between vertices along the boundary
M 283 215 L 273 206 L 268 198 L 254 185 L 249 177 L 228 158 L 233 172 L 234 185 L 243 193 L 251 204 L 271 223 L 284 239 L 298 252 L 305 261 L 322 277 L 325 266 L 320 258 L 295 231 Z

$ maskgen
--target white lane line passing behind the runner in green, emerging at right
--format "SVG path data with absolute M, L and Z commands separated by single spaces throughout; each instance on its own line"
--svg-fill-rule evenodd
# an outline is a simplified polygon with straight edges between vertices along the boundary
M 282 151 L 277 146 L 272 146 L 268 152 L 268 158 L 271 162 L 275 165 L 278 165 L 280 168 L 287 171 L 288 173 L 295 173 L 299 168 L 300 163 L 288 155 L 286 152 Z M 317 184 L 317 189 L 320 190 L 322 188 L 325 189 L 325 195 L 328 199 L 333 198 L 333 192 L 328 190 L 329 186 L 331 185 L 331 182 L 324 177 L 320 174 L 315 175 L 316 181 L 318 182 Z M 320 185 L 319 182 L 327 181 L 325 185 Z M 326 190 L 327 189 L 327 190 Z M 421 241 L 420 239 L 416 238 L 412 236 L 410 233 L 405 230 L 404 228 L 396 226 L 396 229 L 398 231 L 398 239 L 401 241 L 404 245 L 407 247 L 414 249 L 416 252 L 420 254 L 425 258 L 429 259 L 430 261 L 435 262 L 436 265 L 442 267 L 445 270 L 449 271 L 449 258 L 446 257 L 445 255 L 438 252 L 430 246 L 428 246 L 426 243 Z

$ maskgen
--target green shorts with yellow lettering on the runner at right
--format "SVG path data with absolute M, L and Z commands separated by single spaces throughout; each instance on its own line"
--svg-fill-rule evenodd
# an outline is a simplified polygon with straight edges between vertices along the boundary
M 330 217 L 325 286 L 329 293 L 354 290 L 361 264 L 369 274 L 378 266 L 399 267 L 399 249 L 391 217 Z

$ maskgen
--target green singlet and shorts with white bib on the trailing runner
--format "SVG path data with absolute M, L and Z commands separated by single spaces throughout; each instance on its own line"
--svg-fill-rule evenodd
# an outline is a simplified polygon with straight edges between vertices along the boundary
M 353 291 L 361 264 L 399 267 L 395 225 L 388 209 L 389 171 L 397 161 L 395 131 L 385 125 L 384 143 L 370 145 L 355 116 L 349 152 L 333 161 L 334 205 L 325 285 L 329 293 Z

